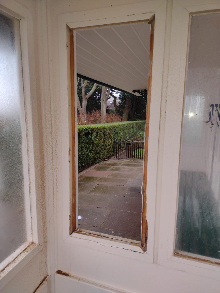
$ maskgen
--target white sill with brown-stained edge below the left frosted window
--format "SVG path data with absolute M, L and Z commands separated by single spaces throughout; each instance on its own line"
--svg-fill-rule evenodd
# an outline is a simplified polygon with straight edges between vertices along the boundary
M 0 272 L 0 290 L 42 249 L 40 244 L 31 243 Z

